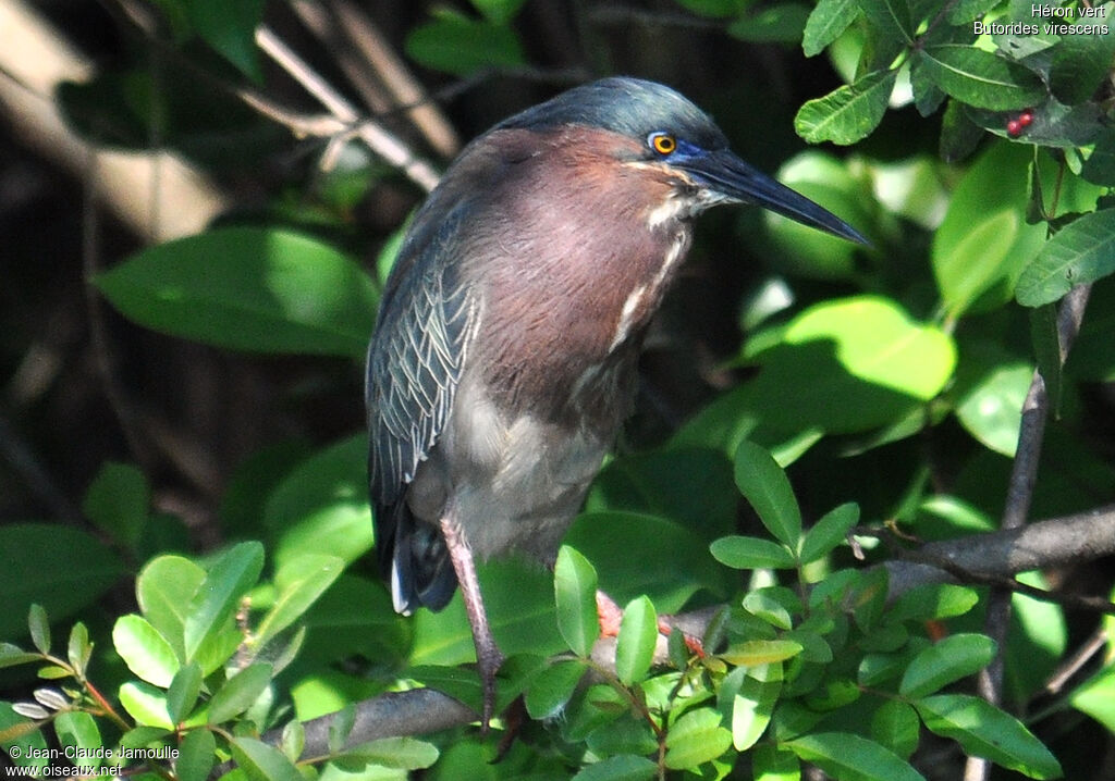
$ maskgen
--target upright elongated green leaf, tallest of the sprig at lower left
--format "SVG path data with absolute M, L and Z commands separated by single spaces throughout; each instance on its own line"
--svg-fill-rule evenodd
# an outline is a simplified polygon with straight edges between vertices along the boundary
M 262 569 L 263 546 L 259 543 L 234 545 L 216 560 L 186 613 L 183 640 L 187 661 L 193 661 L 206 643 L 224 631 L 240 605 L 240 597 L 255 585 Z

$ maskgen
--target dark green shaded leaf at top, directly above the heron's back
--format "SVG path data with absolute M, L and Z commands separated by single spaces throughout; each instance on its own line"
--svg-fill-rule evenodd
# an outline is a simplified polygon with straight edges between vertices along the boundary
M 478 21 L 447 9 L 410 31 L 406 51 L 417 62 L 456 76 L 482 68 L 513 68 L 525 64 L 523 47 L 506 25 Z

